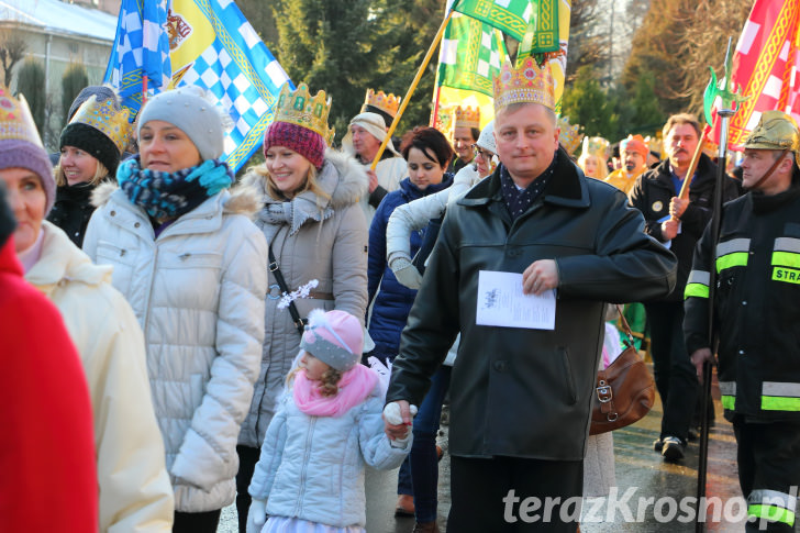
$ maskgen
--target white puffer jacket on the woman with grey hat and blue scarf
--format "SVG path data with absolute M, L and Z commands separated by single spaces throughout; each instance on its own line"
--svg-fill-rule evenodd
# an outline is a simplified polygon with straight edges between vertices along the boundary
M 144 331 L 176 510 L 221 509 L 235 497 L 236 437 L 264 342 L 267 243 L 246 216 L 256 196 L 220 192 L 157 238 L 115 186 L 98 188 L 95 203 L 84 249 L 113 265 Z

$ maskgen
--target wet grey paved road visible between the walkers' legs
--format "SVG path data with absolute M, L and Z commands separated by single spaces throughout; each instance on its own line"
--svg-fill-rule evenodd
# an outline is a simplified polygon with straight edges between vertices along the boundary
M 657 396 L 657 395 L 656 395 Z M 714 387 L 719 399 L 719 390 Z M 716 424 L 710 435 L 709 476 L 707 496 L 719 498 L 718 517 L 713 508 L 708 514 L 709 532 L 742 532 L 746 507 L 738 492 L 735 440 L 733 429 L 722 418 L 716 404 Z M 690 444 L 687 457 L 680 464 L 666 464 L 653 451 L 653 440 L 660 426 L 662 407 L 638 423 L 614 432 L 616 464 L 616 504 L 610 499 L 589 500 L 584 504 L 581 531 L 585 533 L 690 533 L 692 521 L 686 522 L 690 508 L 685 497 L 693 497 L 697 489 L 697 445 Z M 446 429 L 446 427 L 445 427 Z M 440 528 L 446 531 L 449 510 L 449 456 L 440 464 Z M 413 519 L 396 519 L 397 470 L 367 475 L 367 531 L 369 533 L 410 533 Z M 629 496 L 630 495 L 630 496 Z M 652 498 L 652 501 L 647 501 Z M 641 500 L 642 499 L 642 500 Z M 619 506 L 627 501 L 624 506 Z M 685 506 L 685 507 L 681 507 Z M 626 514 L 630 513 L 630 514 Z M 223 510 L 219 532 L 236 533 L 235 510 Z M 693 518 L 693 514 L 692 514 Z M 684 522 L 681 522 L 684 520 Z M 796 528 L 800 531 L 800 526 Z M 455 533 L 455 532 L 454 532 Z

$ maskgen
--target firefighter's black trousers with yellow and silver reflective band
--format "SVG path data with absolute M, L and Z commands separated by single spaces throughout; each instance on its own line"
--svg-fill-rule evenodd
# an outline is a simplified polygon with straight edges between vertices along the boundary
M 753 423 L 736 415 L 733 431 L 738 445 L 738 484 L 747 498 L 748 514 L 757 518 L 747 522 L 746 531 L 793 532 L 800 485 L 800 423 Z M 784 512 L 787 507 L 791 514 Z

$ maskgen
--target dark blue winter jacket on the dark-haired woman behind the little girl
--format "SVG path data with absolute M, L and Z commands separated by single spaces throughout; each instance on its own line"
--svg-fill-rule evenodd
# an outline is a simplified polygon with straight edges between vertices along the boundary
M 441 184 L 420 190 L 407 177 L 398 190 L 389 192 L 378 206 L 369 226 L 368 289 L 373 314 L 369 319 L 369 336 L 375 342 L 375 354 L 395 358 L 400 346 L 400 333 L 405 327 L 416 291 L 400 285 L 386 260 L 386 225 L 395 209 L 418 198 L 433 195 L 453 185 L 453 175 L 445 174 Z M 411 256 L 422 244 L 425 230 L 411 233 Z M 377 295 L 376 295 L 377 293 Z

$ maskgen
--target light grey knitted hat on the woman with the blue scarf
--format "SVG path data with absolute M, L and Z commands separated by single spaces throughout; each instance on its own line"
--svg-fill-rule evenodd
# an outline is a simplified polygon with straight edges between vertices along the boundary
M 199 87 L 186 86 L 159 92 L 147 100 L 136 123 L 136 138 L 142 126 L 152 120 L 176 125 L 200 152 L 202 160 L 216 159 L 224 152 L 221 109 L 203 98 Z

